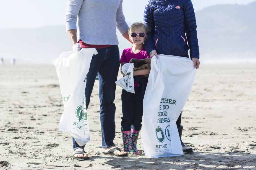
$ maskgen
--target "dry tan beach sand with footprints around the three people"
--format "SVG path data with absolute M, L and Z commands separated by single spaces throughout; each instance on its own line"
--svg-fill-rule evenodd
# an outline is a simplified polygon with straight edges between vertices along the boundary
M 80 162 L 72 157 L 69 134 L 58 131 L 63 103 L 54 66 L 0 66 L 0 169 L 256 169 L 255 68 L 202 64 L 182 115 L 183 142 L 194 153 L 157 159 L 102 154 L 96 81 L 88 109 L 90 160 Z M 115 100 L 118 147 L 121 90 Z

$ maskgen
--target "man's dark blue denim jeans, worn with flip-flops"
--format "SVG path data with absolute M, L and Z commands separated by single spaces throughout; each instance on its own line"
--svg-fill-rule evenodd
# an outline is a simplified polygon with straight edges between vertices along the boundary
M 90 69 L 87 74 L 85 89 L 86 108 L 90 103 L 92 88 L 96 75 L 99 76 L 99 100 L 102 148 L 114 146 L 115 138 L 115 89 L 119 70 L 119 49 L 117 45 L 108 48 L 97 49 L 98 54 L 92 56 Z M 73 138 L 73 149 L 84 149 Z

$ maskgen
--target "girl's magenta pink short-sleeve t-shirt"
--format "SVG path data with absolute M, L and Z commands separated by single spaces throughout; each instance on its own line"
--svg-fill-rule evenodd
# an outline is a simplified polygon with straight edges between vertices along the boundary
M 149 55 L 147 55 L 147 51 L 145 48 L 142 48 L 141 51 L 137 54 L 133 54 L 131 49 L 132 47 L 124 49 L 122 56 L 120 58 L 120 63 L 121 62 L 129 63 L 132 58 L 137 58 L 138 60 L 149 58 Z M 137 87 L 138 85 L 139 85 L 138 83 L 134 83 L 134 87 Z

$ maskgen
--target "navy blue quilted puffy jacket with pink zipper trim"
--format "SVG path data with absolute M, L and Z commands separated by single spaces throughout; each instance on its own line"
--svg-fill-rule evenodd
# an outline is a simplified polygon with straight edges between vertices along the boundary
M 188 57 L 190 49 L 190 58 L 199 58 L 196 17 L 191 0 L 149 0 L 144 11 L 144 24 L 151 29 L 145 41 L 148 54 L 156 50 L 157 54 Z

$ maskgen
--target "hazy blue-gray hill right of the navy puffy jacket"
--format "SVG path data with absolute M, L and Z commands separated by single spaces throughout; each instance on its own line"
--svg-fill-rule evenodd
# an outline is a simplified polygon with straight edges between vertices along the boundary
M 215 5 L 196 12 L 202 59 L 256 59 L 255 11 L 256 2 Z

